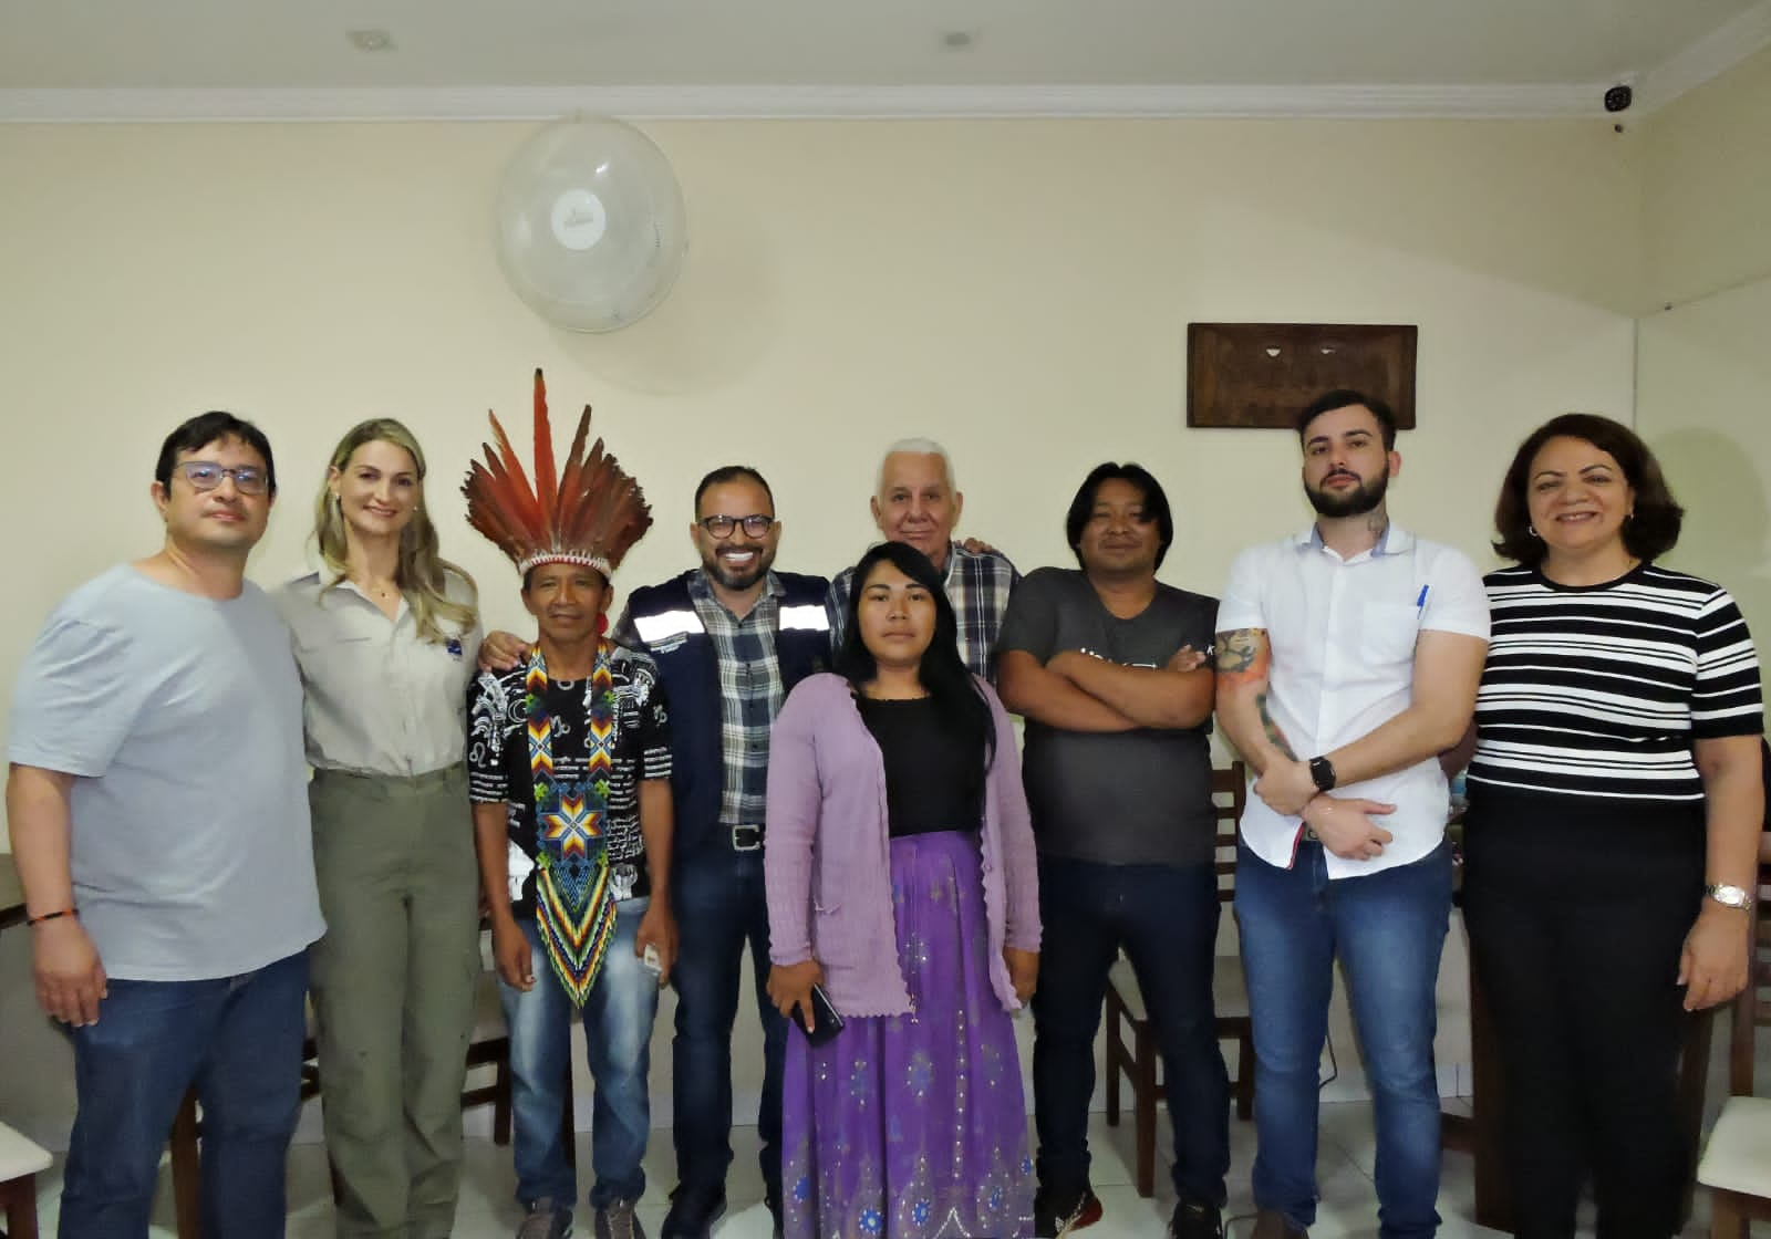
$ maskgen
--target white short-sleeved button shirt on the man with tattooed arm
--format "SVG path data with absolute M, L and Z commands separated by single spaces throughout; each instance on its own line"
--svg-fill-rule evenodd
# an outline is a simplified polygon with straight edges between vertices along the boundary
M 1323 545 L 1316 527 L 1243 550 L 1218 602 L 1218 632 L 1264 628 L 1273 655 L 1266 708 L 1291 752 L 1309 759 L 1374 731 L 1413 701 L 1415 637 L 1422 630 L 1488 641 L 1488 595 L 1468 556 L 1420 542 L 1394 522 L 1378 547 L 1351 559 Z M 1328 855 L 1330 878 L 1404 866 L 1445 835 L 1450 798 L 1436 758 L 1335 796 L 1394 804 L 1376 818 L 1394 835 L 1371 860 Z M 1289 869 L 1302 820 L 1249 793 L 1241 837 L 1254 855 Z

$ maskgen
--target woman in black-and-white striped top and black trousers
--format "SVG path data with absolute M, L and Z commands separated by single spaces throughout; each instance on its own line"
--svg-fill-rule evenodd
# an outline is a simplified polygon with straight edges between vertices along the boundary
M 1520 1235 L 1679 1228 L 1688 1012 L 1746 984 L 1764 789 L 1734 598 L 1656 565 L 1682 510 L 1647 446 L 1566 414 L 1495 510 L 1465 912 L 1507 1073 Z

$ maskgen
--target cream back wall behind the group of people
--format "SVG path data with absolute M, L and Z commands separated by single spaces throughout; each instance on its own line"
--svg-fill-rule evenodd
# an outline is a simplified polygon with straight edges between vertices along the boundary
M 618 586 L 689 563 L 691 489 L 731 460 L 776 483 L 781 565 L 832 572 L 870 538 L 878 450 L 932 434 L 965 527 L 1024 568 L 1068 559 L 1087 467 L 1141 460 L 1179 524 L 1164 575 L 1217 591 L 1240 547 L 1307 515 L 1291 435 L 1183 427 L 1188 320 L 1419 324 L 1394 508 L 1479 558 L 1528 427 L 1631 411 L 1640 154 L 1603 122 L 655 126 L 694 248 L 652 319 L 599 338 L 547 327 L 498 273 L 489 204 L 528 133 L 0 127 L 0 699 L 60 595 L 156 547 L 154 451 L 216 405 L 278 451 L 260 581 L 301 563 L 336 437 L 393 414 L 503 625 L 514 575 L 455 487 L 489 405 L 521 425 L 537 365 L 560 419 L 593 402 L 652 496 L 659 527 Z M 9 933 L 0 1039 L 32 1069 L 0 1073 L 0 1112 L 58 1142 L 66 1050 L 27 977 Z

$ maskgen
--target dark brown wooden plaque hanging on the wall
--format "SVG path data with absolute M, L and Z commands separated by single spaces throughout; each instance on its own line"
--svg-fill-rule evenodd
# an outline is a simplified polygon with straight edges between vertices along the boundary
M 1319 322 L 1188 322 L 1187 425 L 1280 427 L 1334 388 L 1383 400 L 1415 428 L 1419 327 Z

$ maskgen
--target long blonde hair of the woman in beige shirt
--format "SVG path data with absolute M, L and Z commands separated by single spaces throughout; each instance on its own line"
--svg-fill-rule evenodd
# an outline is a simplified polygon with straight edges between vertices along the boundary
M 443 632 L 439 620 L 455 625 L 460 632 L 468 632 L 473 628 L 476 618 L 478 588 L 466 568 L 437 554 L 437 531 L 430 524 L 430 513 L 425 510 L 425 453 L 420 450 L 418 439 L 393 418 L 360 421 L 333 448 L 331 469 L 344 473 L 344 467 L 351 464 L 351 457 L 365 442 L 391 442 L 395 448 L 409 453 L 413 464 L 418 467 L 418 503 L 413 504 L 413 519 L 400 529 L 400 561 L 395 570 L 395 584 L 398 584 L 400 593 L 406 595 L 406 602 L 413 609 L 418 635 L 432 643 L 441 643 L 455 635 Z M 336 588 L 347 575 L 345 558 L 351 536 L 344 512 L 333 497 L 331 469 L 328 469 L 326 478 L 321 481 L 321 494 L 313 503 L 313 542 L 319 545 L 321 561 L 333 575 L 326 582 L 326 589 Z M 448 596 L 450 573 L 468 586 L 469 602 L 462 604 Z

